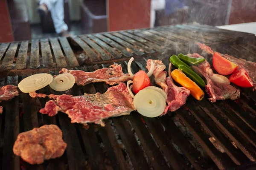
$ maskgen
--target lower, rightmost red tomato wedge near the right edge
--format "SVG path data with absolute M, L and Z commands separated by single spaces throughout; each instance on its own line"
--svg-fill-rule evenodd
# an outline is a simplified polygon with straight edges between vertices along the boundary
M 250 88 L 253 87 L 253 81 L 250 79 L 247 72 L 242 68 L 241 70 L 235 71 L 230 77 L 230 82 L 242 87 L 242 88 Z

